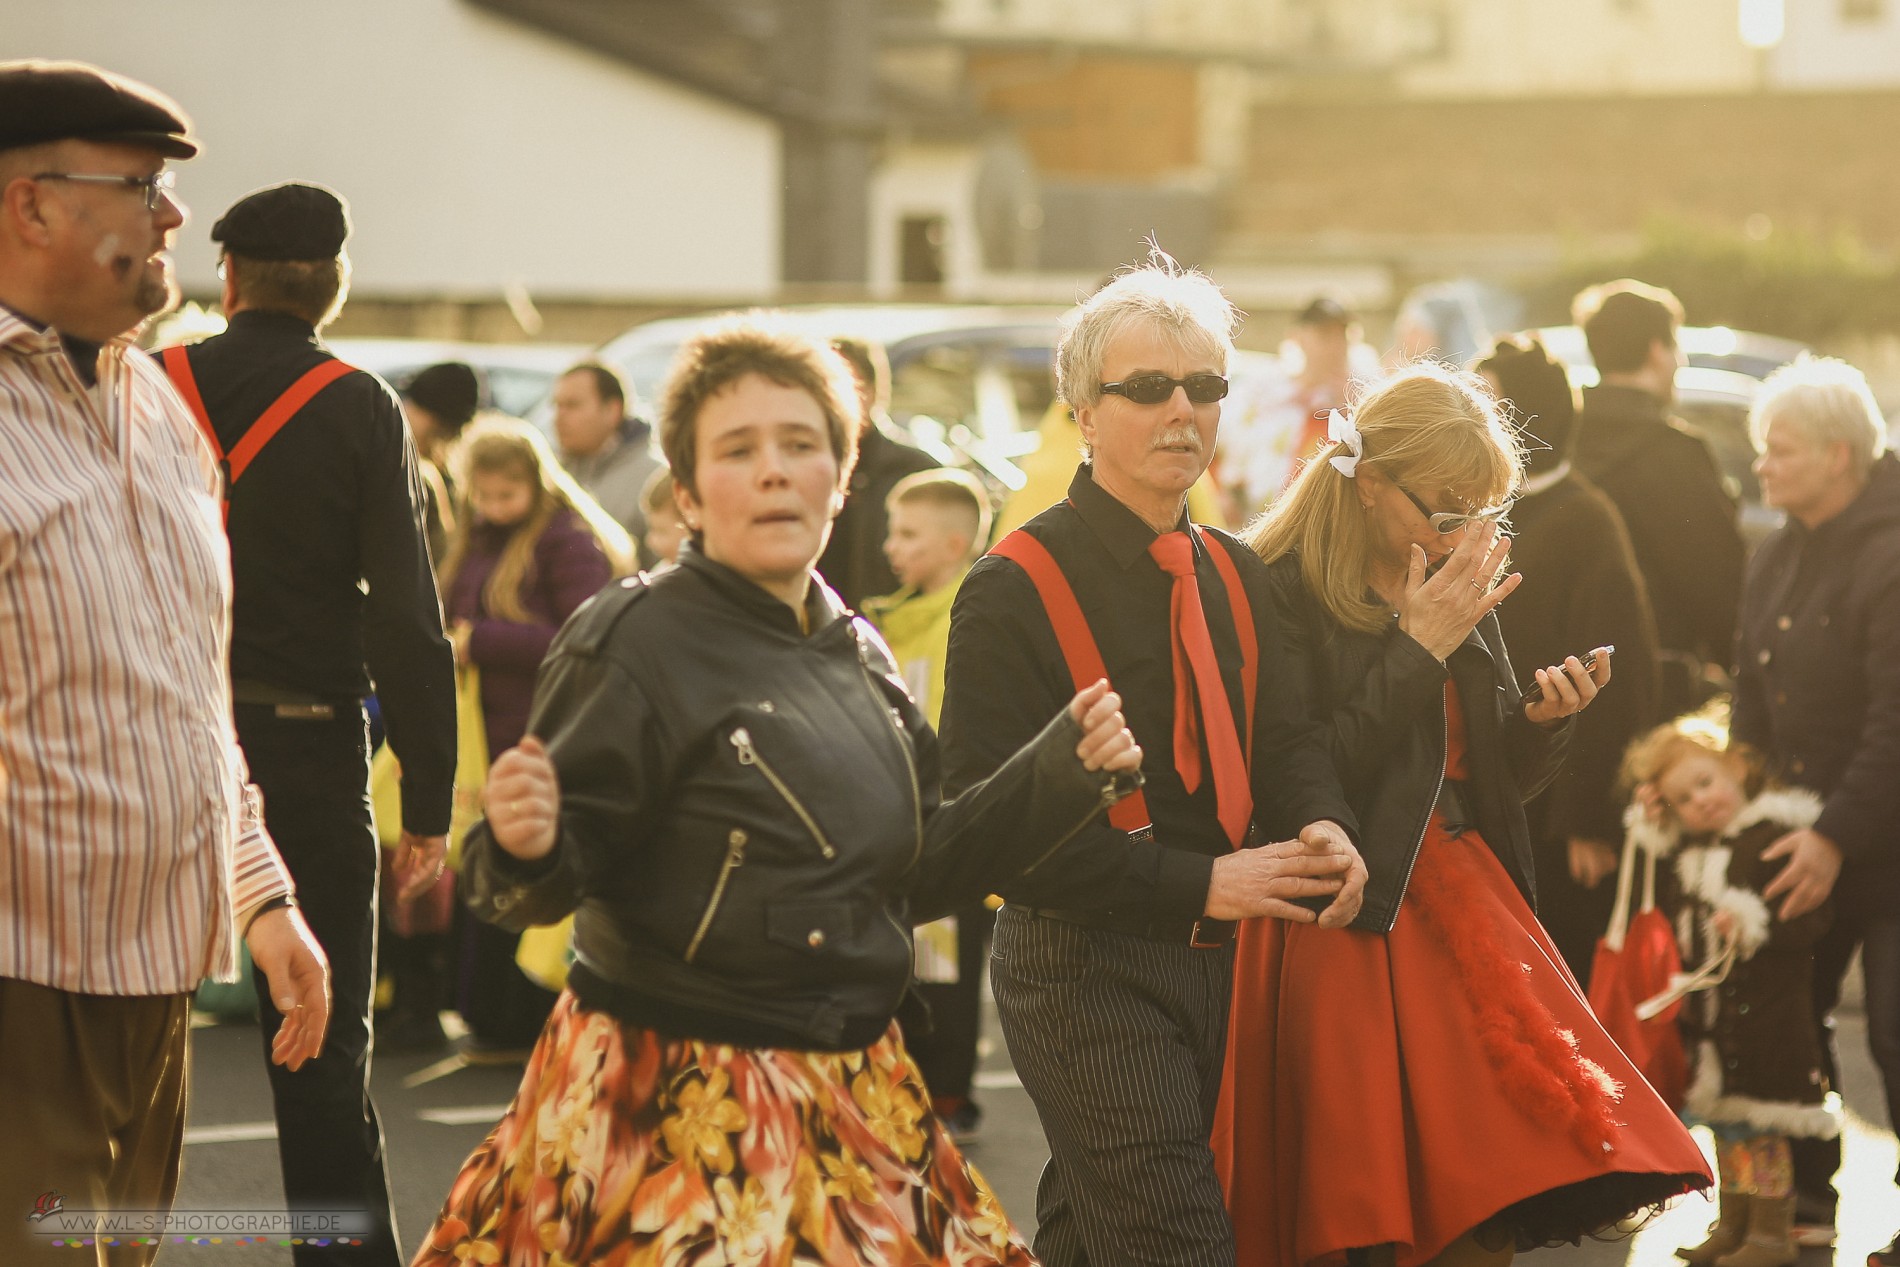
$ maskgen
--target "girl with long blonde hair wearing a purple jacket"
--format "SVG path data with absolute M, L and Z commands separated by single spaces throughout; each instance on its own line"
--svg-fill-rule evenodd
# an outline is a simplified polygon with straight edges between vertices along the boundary
M 490 758 L 521 743 L 534 676 L 560 625 L 633 570 L 627 530 L 560 469 L 540 431 L 486 418 L 462 435 L 462 513 L 441 566 L 456 661 L 481 671 Z M 515 967 L 515 933 L 466 919 L 458 1005 L 475 1050 L 526 1049 L 555 995 Z

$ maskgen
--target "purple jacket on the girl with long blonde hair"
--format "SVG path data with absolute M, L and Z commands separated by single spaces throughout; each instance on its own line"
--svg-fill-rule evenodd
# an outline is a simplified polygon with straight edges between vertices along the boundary
M 488 615 L 481 591 L 511 536 L 513 528 L 475 524 L 462 570 L 443 595 L 448 621 L 469 621 L 475 627 L 469 661 L 481 669 L 481 712 L 490 760 L 521 743 L 528 728 L 528 705 L 534 701 L 534 674 L 560 625 L 614 576 L 600 543 L 580 517 L 560 511 L 534 547 L 528 593 L 521 596 L 528 623 Z

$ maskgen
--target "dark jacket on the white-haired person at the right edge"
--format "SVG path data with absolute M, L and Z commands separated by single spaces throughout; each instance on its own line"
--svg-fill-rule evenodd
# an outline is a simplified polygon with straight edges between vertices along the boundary
M 1748 568 L 1733 735 L 1820 794 L 1814 830 L 1847 870 L 1835 893 L 1900 902 L 1900 462 L 1845 511 L 1790 520 Z

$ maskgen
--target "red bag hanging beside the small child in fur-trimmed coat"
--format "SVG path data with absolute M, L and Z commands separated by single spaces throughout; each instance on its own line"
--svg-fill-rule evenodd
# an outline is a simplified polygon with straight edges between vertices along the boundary
M 1636 859 L 1642 855 L 1644 906 L 1630 916 Z M 1689 1058 L 1682 1047 L 1676 1016 L 1682 999 L 1640 1018 L 1638 1005 L 1668 992 L 1682 978 L 1682 952 L 1676 931 L 1657 910 L 1657 855 L 1640 849 L 1634 836 L 1623 845 L 1623 866 L 1617 872 L 1617 904 L 1609 927 L 1596 942 L 1590 965 L 1590 1007 L 1604 1030 L 1615 1039 L 1662 1102 L 1680 1109 L 1689 1087 Z

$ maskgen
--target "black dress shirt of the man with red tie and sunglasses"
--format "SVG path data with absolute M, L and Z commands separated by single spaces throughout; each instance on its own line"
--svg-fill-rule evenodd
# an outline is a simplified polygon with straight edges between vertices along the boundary
M 1188 526 L 1186 517 L 1182 528 Z M 1197 917 L 1206 906 L 1214 859 L 1231 845 L 1216 817 L 1214 779 L 1205 773 L 1189 794 L 1174 769 L 1174 659 L 1170 598 L 1174 577 L 1148 547 L 1155 530 L 1104 492 L 1083 463 L 1060 501 L 1028 524 L 1060 564 L 1108 667 L 1110 686 L 1142 745 L 1142 788 L 1155 838 L 1132 840 L 1096 819 L 1062 849 L 1062 864 L 1039 868 L 1009 885 L 1003 897 L 1028 906 L 1096 908 L 1151 917 Z M 1355 821 L 1326 754 L 1322 728 L 1307 703 L 1309 674 L 1300 631 L 1269 598 L 1265 564 L 1224 532 L 1203 528 L 1206 549 L 1226 549 L 1241 574 L 1260 642 L 1260 690 L 1254 718 L 1254 823 L 1284 840 L 1307 823 Z M 1195 549 L 1195 579 L 1206 612 L 1227 701 L 1239 722 L 1241 644 L 1227 587 L 1206 549 Z M 1028 574 L 988 555 L 971 568 L 950 615 L 944 671 L 944 788 L 958 792 L 996 771 L 1034 739 L 1075 695 L 1054 629 Z M 1203 760 L 1203 769 L 1212 766 Z M 1024 840 L 1024 851 L 1051 842 Z M 1077 853 L 1092 864 L 1077 864 Z M 1060 876 L 1060 883 L 1054 879 Z

